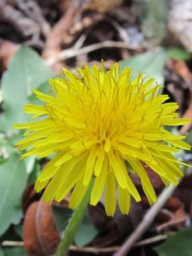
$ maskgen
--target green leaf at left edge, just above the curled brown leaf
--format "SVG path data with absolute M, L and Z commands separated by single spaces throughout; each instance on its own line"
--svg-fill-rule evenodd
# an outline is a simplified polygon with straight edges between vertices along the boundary
M 13 154 L 0 165 L 0 236 L 10 224 L 19 224 L 22 218 L 22 193 L 28 175 L 20 154 Z

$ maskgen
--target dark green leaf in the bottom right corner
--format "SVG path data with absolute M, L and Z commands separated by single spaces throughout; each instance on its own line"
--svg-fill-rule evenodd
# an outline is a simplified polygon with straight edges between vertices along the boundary
M 153 249 L 159 256 L 192 256 L 192 227 L 182 228 L 175 235 L 168 235 L 168 239 Z

